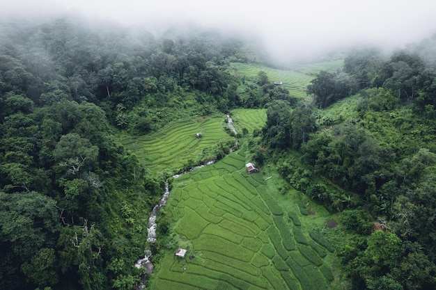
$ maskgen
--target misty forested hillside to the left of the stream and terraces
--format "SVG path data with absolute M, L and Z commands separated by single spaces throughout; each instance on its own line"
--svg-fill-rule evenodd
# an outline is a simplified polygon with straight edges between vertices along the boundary
M 156 179 L 114 138 L 238 105 L 241 43 L 81 19 L 0 29 L 0 288 L 131 289 Z

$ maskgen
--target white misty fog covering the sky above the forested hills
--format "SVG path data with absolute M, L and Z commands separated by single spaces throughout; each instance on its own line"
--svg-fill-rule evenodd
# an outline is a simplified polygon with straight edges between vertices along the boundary
M 189 25 L 249 35 L 275 63 L 313 60 L 350 46 L 401 48 L 436 31 L 436 4 L 417 1 L 0 0 L 2 19 L 75 15 L 163 33 Z

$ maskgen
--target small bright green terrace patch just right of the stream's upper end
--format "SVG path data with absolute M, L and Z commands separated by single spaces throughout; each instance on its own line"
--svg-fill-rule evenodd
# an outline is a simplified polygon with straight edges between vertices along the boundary
M 242 133 L 242 128 L 247 128 L 249 133 L 253 133 L 254 129 L 262 129 L 267 122 L 266 109 L 247 109 L 237 108 L 231 111 L 233 125 L 236 131 Z

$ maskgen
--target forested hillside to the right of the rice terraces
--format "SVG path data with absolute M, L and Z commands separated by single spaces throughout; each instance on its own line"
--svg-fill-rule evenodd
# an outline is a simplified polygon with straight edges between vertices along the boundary
M 277 170 L 352 233 L 337 249 L 352 289 L 436 285 L 436 70 L 421 52 L 351 51 L 311 81 L 310 102 L 267 109 Z

